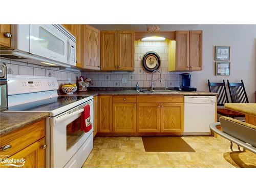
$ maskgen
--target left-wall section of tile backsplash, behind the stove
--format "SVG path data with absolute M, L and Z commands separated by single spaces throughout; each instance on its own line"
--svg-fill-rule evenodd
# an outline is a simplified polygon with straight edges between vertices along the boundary
M 71 79 L 71 83 L 77 82 L 77 79 L 81 75 L 81 72 L 69 72 L 66 70 L 59 70 L 59 68 L 33 65 L 27 62 L 20 62 L 16 60 L 1 58 L 1 57 L 0 57 L 0 61 L 3 61 L 6 63 L 7 74 L 56 77 L 58 80 L 59 88 L 61 84 L 69 82 L 69 78 Z

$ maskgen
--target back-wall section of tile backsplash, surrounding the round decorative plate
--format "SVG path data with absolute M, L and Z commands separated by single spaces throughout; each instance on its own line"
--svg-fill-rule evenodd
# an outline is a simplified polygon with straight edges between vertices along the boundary
M 135 41 L 135 70 L 129 73 L 112 73 L 112 72 L 82 72 L 84 77 L 89 77 L 94 84 L 90 87 L 150 87 L 151 73 L 143 70 L 141 59 L 147 51 L 155 51 L 161 59 L 159 71 L 162 73 L 162 83 L 155 81 L 155 87 L 178 87 L 179 73 L 168 72 L 168 40 L 165 41 Z M 159 74 L 156 73 L 153 79 L 157 79 Z M 126 83 L 122 83 L 122 78 Z

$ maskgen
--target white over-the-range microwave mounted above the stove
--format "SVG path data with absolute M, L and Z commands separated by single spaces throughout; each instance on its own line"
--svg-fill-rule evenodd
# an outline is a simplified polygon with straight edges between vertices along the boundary
M 61 25 L 12 25 L 11 48 L 1 57 L 39 65 L 76 65 L 76 38 Z

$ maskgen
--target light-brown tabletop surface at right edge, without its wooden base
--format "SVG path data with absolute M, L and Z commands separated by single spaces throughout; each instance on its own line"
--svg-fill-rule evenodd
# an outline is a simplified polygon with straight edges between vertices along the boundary
M 225 103 L 225 108 L 247 115 L 256 116 L 256 103 Z

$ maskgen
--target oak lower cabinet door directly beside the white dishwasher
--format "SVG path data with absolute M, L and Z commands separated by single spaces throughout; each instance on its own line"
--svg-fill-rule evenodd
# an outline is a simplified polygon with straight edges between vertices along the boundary
M 183 103 L 161 103 L 160 131 L 183 132 L 184 105 Z

